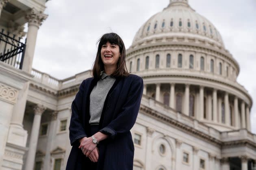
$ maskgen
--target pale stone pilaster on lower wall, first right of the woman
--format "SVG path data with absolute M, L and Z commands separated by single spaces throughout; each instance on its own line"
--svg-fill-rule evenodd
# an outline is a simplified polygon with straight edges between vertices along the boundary
M 150 169 L 152 167 L 152 160 L 151 160 L 151 155 L 152 155 L 152 134 L 154 133 L 154 129 L 147 127 L 147 150 L 146 150 L 146 156 L 145 156 L 145 169 Z

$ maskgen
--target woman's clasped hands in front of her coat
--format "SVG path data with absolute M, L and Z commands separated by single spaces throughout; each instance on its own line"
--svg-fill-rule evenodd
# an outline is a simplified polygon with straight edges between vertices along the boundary
M 97 147 L 97 144 L 92 142 L 92 138 L 91 137 L 89 137 L 89 138 L 84 137 L 84 138 L 81 138 L 79 140 L 79 142 L 80 142 L 79 149 L 82 150 L 82 153 L 84 153 L 84 155 L 86 157 L 89 157 L 89 159 L 92 162 L 98 162 L 99 149 Z

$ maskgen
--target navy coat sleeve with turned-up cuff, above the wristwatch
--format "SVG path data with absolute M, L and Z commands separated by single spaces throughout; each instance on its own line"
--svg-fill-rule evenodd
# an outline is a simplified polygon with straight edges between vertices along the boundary
M 143 79 L 141 77 L 137 77 L 131 83 L 128 98 L 126 99 L 126 102 L 121 108 L 118 116 L 106 127 L 101 129 L 100 132 L 109 135 L 110 138 L 115 138 L 118 133 L 130 131 L 132 126 L 135 124 L 139 113 L 142 93 Z

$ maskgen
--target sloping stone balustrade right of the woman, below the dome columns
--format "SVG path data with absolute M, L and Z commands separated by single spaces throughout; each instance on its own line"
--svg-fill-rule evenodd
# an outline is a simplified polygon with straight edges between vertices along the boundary
M 192 127 L 195 130 L 198 130 L 206 135 L 209 135 L 217 140 L 220 140 L 221 132 L 219 132 L 218 130 L 214 129 L 213 127 L 209 127 L 204 123 L 201 123 L 200 121 L 198 121 L 197 119 L 194 119 L 193 117 L 189 117 L 183 113 L 179 113 L 175 109 L 170 108 L 169 106 L 154 100 L 154 98 L 143 95 L 141 104 L 143 104 L 144 106 L 150 107 L 152 110 L 158 112 L 158 114 L 162 114 L 171 119 L 179 121 L 184 125 Z

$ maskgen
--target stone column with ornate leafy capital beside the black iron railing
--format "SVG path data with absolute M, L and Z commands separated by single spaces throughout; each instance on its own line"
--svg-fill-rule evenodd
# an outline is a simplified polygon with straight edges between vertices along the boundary
M 24 55 L 24 61 L 22 70 L 30 73 L 32 70 L 32 62 L 35 53 L 35 44 L 37 40 L 37 32 L 39 26 L 41 26 L 43 20 L 47 18 L 48 15 L 43 14 L 43 12 L 36 11 L 35 8 L 28 11 L 26 19 L 28 20 L 28 33 L 26 40 L 26 51 Z

